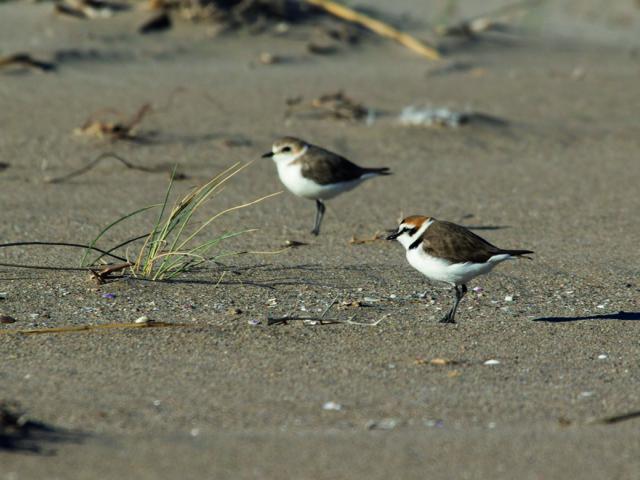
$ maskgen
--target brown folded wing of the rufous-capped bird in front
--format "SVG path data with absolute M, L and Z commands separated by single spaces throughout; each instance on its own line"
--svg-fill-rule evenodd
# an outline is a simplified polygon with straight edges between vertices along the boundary
M 422 238 L 426 253 L 452 263 L 484 263 L 494 255 L 508 253 L 451 222 L 434 220 Z

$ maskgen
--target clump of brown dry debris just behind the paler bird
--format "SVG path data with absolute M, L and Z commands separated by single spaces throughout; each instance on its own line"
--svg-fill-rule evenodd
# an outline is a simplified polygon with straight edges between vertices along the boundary
M 286 116 L 294 112 L 317 113 L 321 118 L 356 121 L 366 119 L 372 110 L 359 102 L 349 98 L 343 92 L 333 92 L 320 95 L 309 103 L 303 103 L 303 97 L 293 97 L 286 101 Z

